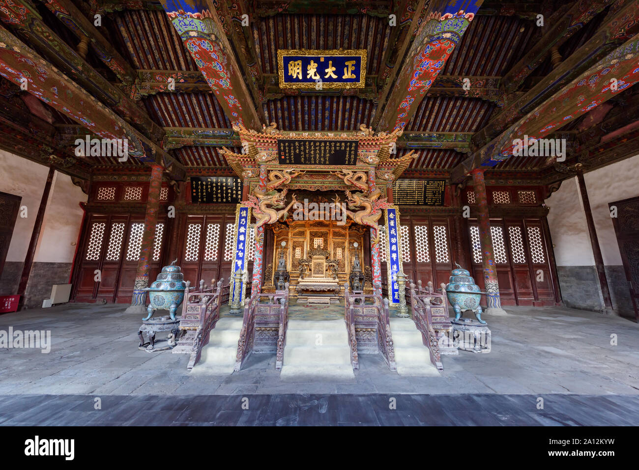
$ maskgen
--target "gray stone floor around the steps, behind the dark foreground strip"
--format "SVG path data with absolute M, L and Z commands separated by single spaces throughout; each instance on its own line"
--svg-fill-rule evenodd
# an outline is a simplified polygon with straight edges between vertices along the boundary
M 639 395 L 639 325 L 569 308 L 507 307 L 488 317 L 492 351 L 443 356 L 440 377 L 402 377 L 360 355 L 355 380 L 284 382 L 274 354 L 224 377 L 187 370 L 187 354 L 137 349 L 126 305 L 68 304 L 0 315 L 0 330 L 50 330 L 51 351 L 0 349 L 0 395 L 579 394 Z M 617 345 L 611 345 L 611 335 Z

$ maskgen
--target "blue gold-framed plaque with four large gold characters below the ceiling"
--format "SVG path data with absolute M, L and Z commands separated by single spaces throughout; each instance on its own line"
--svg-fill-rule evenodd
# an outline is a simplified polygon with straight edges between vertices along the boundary
M 281 88 L 364 88 L 366 49 L 280 49 L 277 71 Z

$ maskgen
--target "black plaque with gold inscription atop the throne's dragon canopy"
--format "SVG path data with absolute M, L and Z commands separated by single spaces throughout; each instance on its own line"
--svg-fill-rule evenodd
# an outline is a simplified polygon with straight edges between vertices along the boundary
M 277 139 L 281 165 L 355 165 L 357 140 Z

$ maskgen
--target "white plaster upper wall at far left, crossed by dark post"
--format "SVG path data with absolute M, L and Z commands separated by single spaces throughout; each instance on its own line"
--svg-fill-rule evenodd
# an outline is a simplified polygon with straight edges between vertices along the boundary
M 0 191 L 21 196 L 20 205 L 27 207 L 27 217 L 19 214 L 15 221 L 6 261 L 24 261 L 48 173 L 44 165 L 0 149 Z M 82 222 L 78 203 L 86 200 L 69 176 L 54 174 L 34 261 L 73 261 Z

